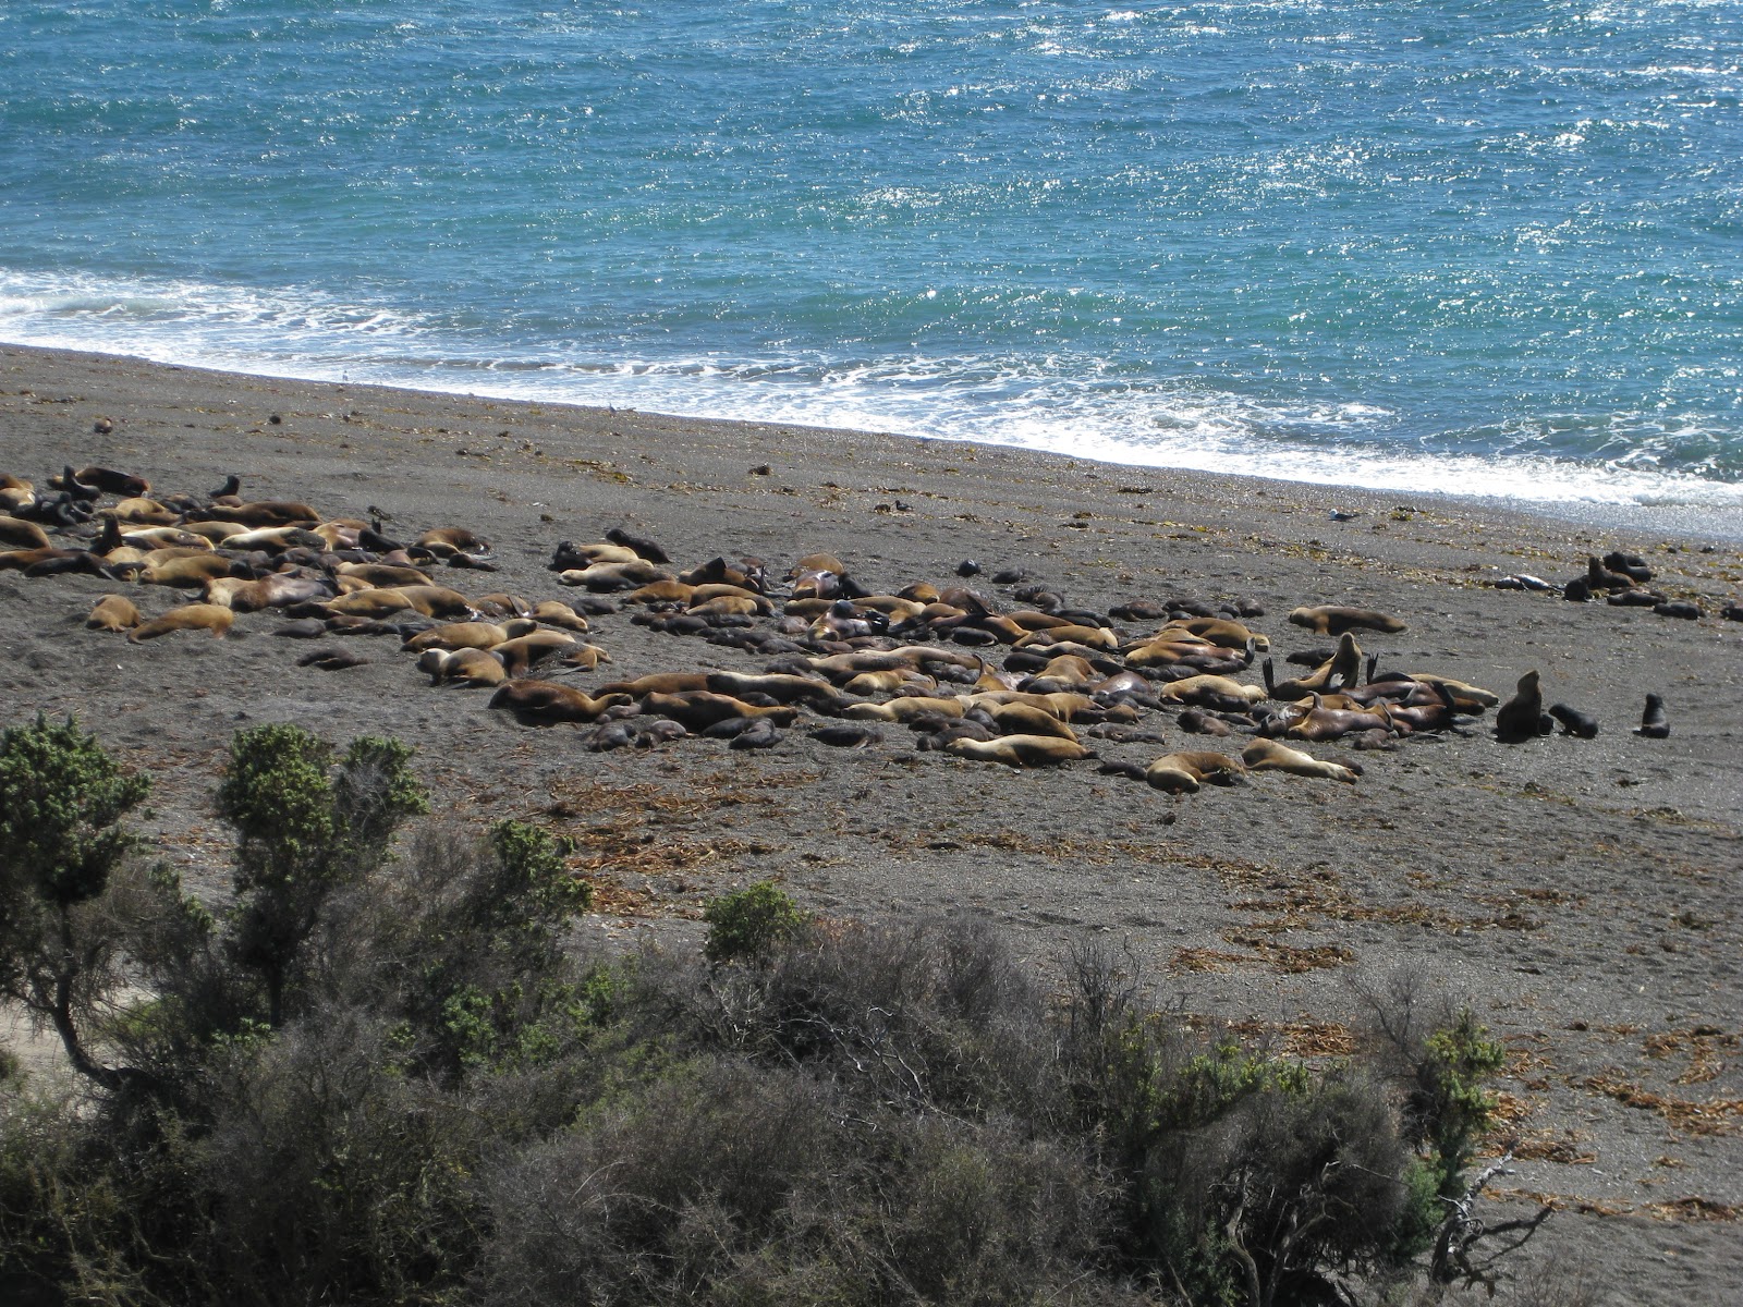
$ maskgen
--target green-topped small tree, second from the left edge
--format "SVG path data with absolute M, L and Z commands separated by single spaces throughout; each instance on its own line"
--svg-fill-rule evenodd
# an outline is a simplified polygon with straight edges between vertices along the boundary
M 241 730 L 218 788 L 235 828 L 235 955 L 267 986 L 267 1021 L 284 1021 L 321 908 L 387 857 L 399 824 L 427 812 L 424 788 L 394 739 L 352 741 L 335 774 L 333 748 L 295 725 Z

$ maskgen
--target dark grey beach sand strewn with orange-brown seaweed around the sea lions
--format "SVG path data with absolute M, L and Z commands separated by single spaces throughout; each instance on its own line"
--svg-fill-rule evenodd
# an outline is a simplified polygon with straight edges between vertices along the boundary
M 112 434 L 92 434 L 99 416 Z M 1095 932 L 1129 946 L 1159 1004 L 1302 1053 L 1344 1044 L 1351 978 L 1403 969 L 1469 1000 L 1511 1051 L 1495 1150 L 1515 1141 L 1516 1173 L 1497 1182 L 1513 1206 L 1494 1209 L 1558 1208 L 1518 1269 L 1584 1274 L 1616 1304 L 1743 1298 L 1743 624 L 1717 615 L 1740 596 L 1743 554 L 1719 532 L 0 349 L 0 472 L 40 484 L 63 464 L 193 493 L 235 472 L 249 497 L 331 518 L 375 505 L 403 537 L 464 525 L 500 565 L 443 572 L 467 594 L 573 598 L 547 570 L 553 547 L 626 526 L 685 566 L 760 554 L 783 575 L 828 551 L 875 591 L 953 582 L 969 558 L 985 566 L 974 584 L 1000 598 L 1009 587 L 987 577 L 1004 566 L 1103 612 L 1246 598 L 1279 666 L 1326 643 L 1290 626 L 1292 608 L 1346 603 L 1408 622 L 1361 633 L 1382 671 L 1506 697 L 1539 669 L 1546 702 L 1595 714 L 1597 739 L 1502 746 L 1490 714 L 1391 753 L 1309 746 L 1358 756 L 1354 786 L 1262 774 L 1173 798 L 1093 762 L 1011 770 L 917 753 L 899 727 L 870 749 L 791 730 L 760 753 L 711 739 L 587 753 L 577 728 L 486 711 L 488 692 L 431 688 L 392 640 L 349 641 L 370 662 L 347 671 L 296 667 L 309 645 L 270 636 L 274 613 L 241 615 L 225 640 L 129 645 L 84 629 L 113 582 L 0 573 L 5 720 L 78 713 L 148 770 L 152 833 L 195 885 L 223 880 L 209 803 L 230 734 L 296 721 L 335 741 L 413 742 L 439 812 L 582 836 L 601 904 L 587 931 L 619 945 L 695 946 L 704 899 L 774 877 L 823 913 L 985 913 L 1042 967 Z M 1656 587 L 1708 615 L 1489 584 L 1565 580 L 1612 547 L 1644 554 Z M 146 615 L 183 598 L 131 593 Z M 563 676 L 584 688 L 767 662 L 627 613 L 593 631 L 614 662 Z M 1665 697 L 1668 739 L 1631 734 L 1647 692 Z M 1102 756 L 1143 765 L 1245 742 L 1149 716 L 1166 744 L 1095 741 Z

